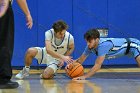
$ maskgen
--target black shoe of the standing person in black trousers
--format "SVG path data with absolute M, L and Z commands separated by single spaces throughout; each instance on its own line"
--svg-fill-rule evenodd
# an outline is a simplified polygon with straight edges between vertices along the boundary
M 7 83 L 0 84 L 0 89 L 13 89 L 18 88 L 19 84 L 17 82 L 8 81 Z

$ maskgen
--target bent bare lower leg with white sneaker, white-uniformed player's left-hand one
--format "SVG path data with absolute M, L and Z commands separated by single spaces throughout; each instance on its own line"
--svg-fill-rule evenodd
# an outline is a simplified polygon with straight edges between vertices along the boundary
M 29 76 L 30 65 L 32 64 L 33 58 L 39 55 L 38 49 L 36 47 L 29 48 L 25 54 L 25 67 L 15 76 L 18 79 L 23 79 Z

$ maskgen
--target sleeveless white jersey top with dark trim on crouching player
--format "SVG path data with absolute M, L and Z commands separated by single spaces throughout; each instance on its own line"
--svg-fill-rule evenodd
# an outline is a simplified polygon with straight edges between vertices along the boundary
M 56 43 L 56 37 L 54 36 L 54 30 L 53 29 L 50 29 L 49 30 L 51 32 L 51 45 L 52 45 L 52 49 L 59 53 L 59 54 L 62 54 L 64 55 L 67 50 L 68 50 L 68 47 L 69 47 L 69 43 L 70 43 L 70 37 L 72 37 L 72 35 L 66 31 L 65 33 L 65 36 L 63 38 L 63 40 L 60 42 L 59 45 L 57 45 Z

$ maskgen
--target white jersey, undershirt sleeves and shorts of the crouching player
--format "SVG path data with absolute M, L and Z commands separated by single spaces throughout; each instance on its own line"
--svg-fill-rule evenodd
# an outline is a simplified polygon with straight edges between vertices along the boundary
M 73 36 L 66 31 L 64 39 L 57 39 L 54 36 L 54 30 L 50 29 L 45 32 L 45 40 L 51 41 L 52 49 L 59 54 L 64 55 L 69 45 L 74 44 Z M 51 55 L 47 54 L 46 47 L 35 47 L 38 50 L 37 55 L 35 58 L 38 60 L 39 64 L 47 64 L 48 67 L 52 68 L 54 72 L 58 69 L 59 59 L 52 57 Z

